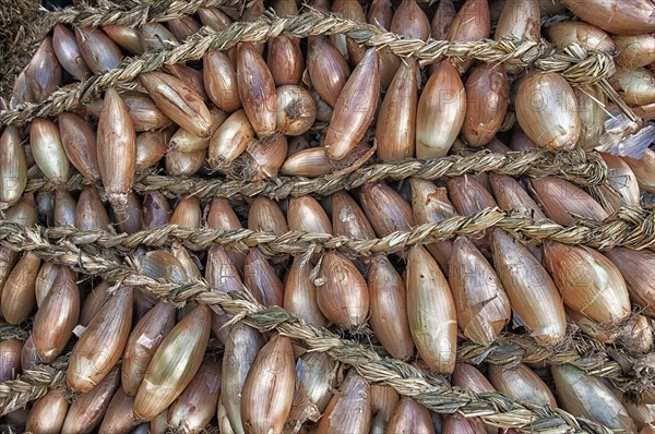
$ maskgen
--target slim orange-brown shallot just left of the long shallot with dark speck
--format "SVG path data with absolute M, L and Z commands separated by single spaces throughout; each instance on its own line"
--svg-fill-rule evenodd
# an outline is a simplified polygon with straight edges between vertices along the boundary
M 368 275 L 371 328 L 395 359 L 414 355 L 414 341 L 407 322 L 405 284 L 386 256 L 372 260 Z

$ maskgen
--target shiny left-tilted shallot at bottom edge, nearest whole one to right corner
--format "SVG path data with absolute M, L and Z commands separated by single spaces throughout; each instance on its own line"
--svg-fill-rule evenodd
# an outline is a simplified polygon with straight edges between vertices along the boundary
M 572 364 L 553 365 L 550 371 L 564 410 L 610 430 L 636 431 L 623 405 L 602 381 Z

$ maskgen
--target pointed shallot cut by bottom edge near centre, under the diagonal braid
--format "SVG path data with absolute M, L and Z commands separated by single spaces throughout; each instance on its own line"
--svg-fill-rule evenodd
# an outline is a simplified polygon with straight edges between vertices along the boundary
M 317 434 L 367 434 L 371 424 L 371 387 L 350 370 L 317 426 Z

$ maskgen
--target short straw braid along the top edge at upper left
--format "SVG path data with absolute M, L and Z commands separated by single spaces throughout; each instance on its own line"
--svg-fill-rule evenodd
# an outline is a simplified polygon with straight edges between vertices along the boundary
M 97 5 L 81 3 L 73 8 L 49 12 L 41 27 L 50 28 L 57 23 L 78 27 L 99 27 L 109 24 L 138 27 L 151 22 L 168 22 L 184 15 L 192 15 L 200 8 L 218 5 L 246 7 L 243 0 L 160 0 L 141 1 L 135 4 L 117 4 L 100 0 Z

